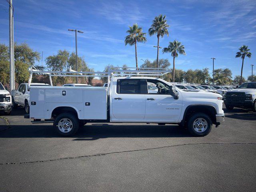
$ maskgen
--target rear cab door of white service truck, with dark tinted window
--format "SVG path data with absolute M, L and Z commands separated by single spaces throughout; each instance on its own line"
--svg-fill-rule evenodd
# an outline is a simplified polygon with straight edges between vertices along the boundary
M 118 120 L 144 120 L 145 94 L 140 79 L 118 79 L 112 90 L 112 115 Z

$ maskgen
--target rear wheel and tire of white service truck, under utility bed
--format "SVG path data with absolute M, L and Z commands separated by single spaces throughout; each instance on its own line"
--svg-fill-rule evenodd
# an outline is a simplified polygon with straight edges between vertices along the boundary
M 53 126 L 58 134 L 68 137 L 77 132 L 79 128 L 79 120 L 72 113 L 62 113 L 54 120 Z

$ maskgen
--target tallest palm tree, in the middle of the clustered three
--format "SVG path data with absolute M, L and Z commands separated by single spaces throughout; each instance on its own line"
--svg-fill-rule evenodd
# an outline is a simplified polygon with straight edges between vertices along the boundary
M 157 36 L 157 57 L 156 57 L 156 64 L 158 68 L 158 55 L 159 55 L 159 38 L 160 36 L 163 37 L 164 35 L 169 36 L 168 27 L 169 25 L 166 23 L 166 16 L 163 16 L 162 14 L 158 17 L 155 17 L 155 19 L 152 21 L 152 25 L 148 30 L 148 34 L 150 36 L 156 34 Z

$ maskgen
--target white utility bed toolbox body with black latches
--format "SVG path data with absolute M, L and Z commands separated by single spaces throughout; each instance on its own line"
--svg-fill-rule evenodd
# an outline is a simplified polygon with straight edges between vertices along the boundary
M 79 119 L 107 119 L 104 87 L 31 86 L 30 118 L 50 119 L 57 107 L 71 107 Z

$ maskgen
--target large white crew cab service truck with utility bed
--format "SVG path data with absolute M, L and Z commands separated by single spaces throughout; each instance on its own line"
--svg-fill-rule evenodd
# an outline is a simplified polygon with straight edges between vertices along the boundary
M 109 82 L 107 88 L 31 86 L 30 114 L 24 118 L 52 122 L 62 136 L 87 122 L 178 124 L 194 136 L 206 136 L 212 124 L 225 119 L 219 94 L 186 92 L 155 77 L 112 77 Z M 158 92 L 148 93 L 148 83 Z

